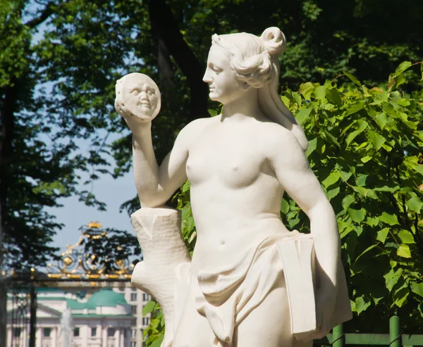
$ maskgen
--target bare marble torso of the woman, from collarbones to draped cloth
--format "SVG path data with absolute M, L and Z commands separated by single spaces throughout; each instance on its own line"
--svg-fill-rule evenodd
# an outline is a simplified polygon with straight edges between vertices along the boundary
M 212 118 L 193 134 L 186 171 L 197 227 L 194 266 L 228 263 L 257 238 L 287 232 L 279 215 L 283 188 L 267 158 L 271 126 L 280 127 Z

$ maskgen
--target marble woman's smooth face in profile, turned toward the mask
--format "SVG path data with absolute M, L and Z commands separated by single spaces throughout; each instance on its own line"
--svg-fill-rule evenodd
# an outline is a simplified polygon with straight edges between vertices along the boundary
M 210 99 L 223 105 L 245 95 L 242 83 L 233 75 L 231 61 L 219 46 L 212 45 L 209 51 L 203 81 L 209 84 Z

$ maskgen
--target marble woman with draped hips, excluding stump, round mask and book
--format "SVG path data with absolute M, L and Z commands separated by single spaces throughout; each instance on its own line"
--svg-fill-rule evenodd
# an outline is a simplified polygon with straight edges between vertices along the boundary
M 261 37 L 215 34 L 203 80 L 223 112 L 185 126 L 160 166 L 152 117 L 140 119 L 116 101 L 133 132 L 142 208 L 163 207 L 187 178 L 191 184 L 197 243 L 173 347 L 293 345 L 283 275 L 288 265 L 277 245 L 304 234 L 289 232 L 281 222 L 285 191 L 309 217 L 317 260 L 317 327 L 306 340 L 350 317 L 336 217 L 309 168 L 305 134 L 277 94 L 278 56 L 285 46 L 276 27 Z M 147 89 L 147 82 L 133 87 L 140 103 L 147 104 Z M 340 286 L 347 309 L 336 317 Z

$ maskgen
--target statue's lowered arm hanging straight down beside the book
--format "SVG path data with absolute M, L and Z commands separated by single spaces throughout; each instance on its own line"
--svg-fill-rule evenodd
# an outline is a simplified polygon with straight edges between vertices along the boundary
M 271 144 L 269 163 L 283 189 L 309 217 L 320 272 L 317 305 L 324 305 L 320 309 L 326 311 L 321 317 L 322 328 L 325 328 L 335 303 L 341 256 L 336 215 L 297 139 L 286 130 L 276 139 L 276 143 Z

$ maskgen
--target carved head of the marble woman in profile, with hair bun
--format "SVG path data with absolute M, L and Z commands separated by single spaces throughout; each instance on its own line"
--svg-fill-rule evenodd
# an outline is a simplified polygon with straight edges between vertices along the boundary
M 210 86 L 210 98 L 224 104 L 238 93 L 277 79 L 278 56 L 285 46 L 285 36 L 277 27 L 264 30 L 261 37 L 245 32 L 214 34 L 203 78 Z

